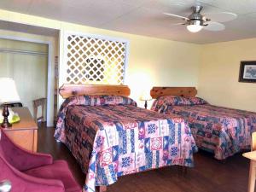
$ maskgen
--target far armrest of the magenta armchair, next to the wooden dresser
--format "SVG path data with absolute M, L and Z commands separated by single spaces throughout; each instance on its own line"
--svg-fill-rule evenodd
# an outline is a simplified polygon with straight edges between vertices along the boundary
M 0 142 L 2 143 L 4 157 L 19 171 L 26 171 L 38 166 L 46 166 L 53 163 L 53 158 L 50 154 L 33 153 L 20 148 L 9 139 L 4 131 L 1 132 L 2 136 Z

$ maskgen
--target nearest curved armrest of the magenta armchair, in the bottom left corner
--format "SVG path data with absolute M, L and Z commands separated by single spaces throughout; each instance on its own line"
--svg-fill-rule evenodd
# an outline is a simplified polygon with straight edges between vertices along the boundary
M 32 177 L 23 172 L 15 170 L 9 162 L 4 160 L 0 154 L 0 168 L 3 174 L 0 174 L 0 180 L 8 179 L 12 183 L 12 192 L 65 192 L 64 185 L 61 181 L 55 179 L 45 179 Z

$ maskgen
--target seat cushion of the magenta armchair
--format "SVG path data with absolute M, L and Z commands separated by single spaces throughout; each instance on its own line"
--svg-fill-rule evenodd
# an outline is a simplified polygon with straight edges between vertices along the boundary
M 65 192 L 82 191 L 79 184 L 73 178 L 65 160 L 55 160 L 51 165 L 40 166 L 27 170 L 24 173 L 33 177 L 61 180 L 64 184 Z

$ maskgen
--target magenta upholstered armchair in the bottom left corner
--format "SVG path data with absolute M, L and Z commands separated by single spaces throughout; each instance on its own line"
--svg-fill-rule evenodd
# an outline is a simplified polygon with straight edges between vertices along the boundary
M 65 160 L 26 151 L 0 129 L 0 181 L 11 182 L 11 192 L 81 192 Z

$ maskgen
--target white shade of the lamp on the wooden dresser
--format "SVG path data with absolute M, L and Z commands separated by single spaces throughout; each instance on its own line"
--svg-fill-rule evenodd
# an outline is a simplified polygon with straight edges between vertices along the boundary
M 0 78 L 0 103 L 19 101 L 20 96 L 17 92 L 14 79 Z

